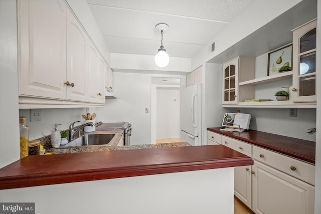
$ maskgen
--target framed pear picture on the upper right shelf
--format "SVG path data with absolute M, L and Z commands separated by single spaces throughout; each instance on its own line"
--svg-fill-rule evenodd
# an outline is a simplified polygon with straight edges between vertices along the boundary
M 292 70 L 292 44 L 268 54 L 267 76 Z

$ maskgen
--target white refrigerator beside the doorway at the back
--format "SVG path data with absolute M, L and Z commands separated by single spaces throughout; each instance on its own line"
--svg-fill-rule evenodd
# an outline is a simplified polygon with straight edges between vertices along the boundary
M 180 141 L 202 145 L 202 84 L 181 89 Z

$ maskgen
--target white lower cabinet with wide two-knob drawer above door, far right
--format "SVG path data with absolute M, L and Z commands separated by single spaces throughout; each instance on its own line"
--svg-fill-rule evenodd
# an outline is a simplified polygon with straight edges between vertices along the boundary
M 253 159 L 255 213 L 314 213 L 314 165 L 258 146 Z

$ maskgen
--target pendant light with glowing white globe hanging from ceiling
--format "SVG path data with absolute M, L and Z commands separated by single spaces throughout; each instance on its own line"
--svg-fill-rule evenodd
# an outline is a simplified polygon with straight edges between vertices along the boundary
M 170 62 L 170 57 L 166 53 L 166 50 L 164 49 L 164 46 L 163 46 L 163 33 L 165 33 L 169 29 L 169 26 L 165 23 L 159 23 L 155 26 L 155 29 L 157 32 L 160 32 L 162 36 L 161 48 L 158 49 L 158 52 L 155 56 L 155 63 L 158 67 L 164 68 Z

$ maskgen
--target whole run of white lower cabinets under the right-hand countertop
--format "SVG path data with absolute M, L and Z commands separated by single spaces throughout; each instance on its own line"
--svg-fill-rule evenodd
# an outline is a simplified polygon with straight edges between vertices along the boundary
M 220 135 L 208 131 L 208 142 L 213 134 L 216 139 Z M 258 214 L 314 212 L 314 165 L 224 135 L 220 140 L 254 160 L 253 166 L 234 169 L 234 194 L 252 211 Z

